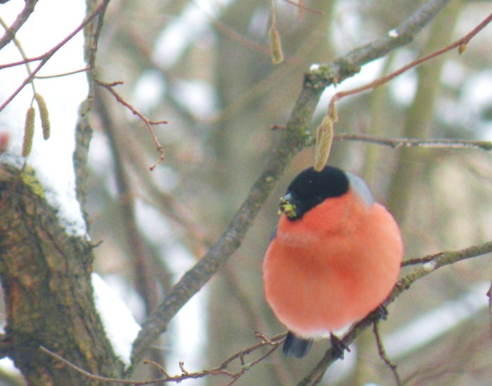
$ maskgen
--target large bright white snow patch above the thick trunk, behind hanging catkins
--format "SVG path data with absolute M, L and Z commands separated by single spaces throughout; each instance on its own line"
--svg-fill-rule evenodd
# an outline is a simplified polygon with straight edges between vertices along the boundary
M 24 1 L 10 1 L 2 6 L 2 18 L 12 22 Z M 27 56 L 38 56 L 56 46 L 82 22 L 84 1 L 52 0 L 41 1 L 25 25 L 16 34 Z M 63 15 L 56 22 L 49 22 L 53 15 Z M 41 69 L 38 75 L 56 75 L 85 67 L 84 39 L 79 32 Z M 0 62 L 11 63 L 21 60 L 20 53 L 13 43 L 0 51 Z M 32 63 L 35 68 L 38 63 Z M 27 77 L 24 66 L 6 68 L 0 72 L 0 104 L 11 96 L 13 91 Z M 84 236 L 86 226 L 75 194 L 75 174 L 72 155 L 75 148 L 75 125 L 77 110 L 87 95 L 86 75 L 81 73 L 67 77 L 36 79 L 37 93 L 43 96 L 48 107 L 51 122 L 51 137 L 44 141 L 41 135 L 39 111 L 34 127 L 32 153 L 27 164 L 37 174 L 44 187 L 46 199 L 58 210 L 60 224 L 72 236 Z M 20 155 L 24 135 L 25 113 L 32 102 L 33 91 L 30 85 L 16 96 L 1 112 L 1 131 L 10 134 L 11 141 L 7 152 Z M 34 103 L 34 108 L 37 108 Z

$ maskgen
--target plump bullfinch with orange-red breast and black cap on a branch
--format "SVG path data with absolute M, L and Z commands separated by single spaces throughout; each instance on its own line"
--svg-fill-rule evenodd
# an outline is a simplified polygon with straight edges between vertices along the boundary
M 302 358 L 330 336 L 343 358 L 335 333 L 384 311 L 398 281 L 399 224 L 363 179 L 332 166 L 300 172 L 278 212 L 262 275 L 266 302 L 289 330 L 283 354 Z

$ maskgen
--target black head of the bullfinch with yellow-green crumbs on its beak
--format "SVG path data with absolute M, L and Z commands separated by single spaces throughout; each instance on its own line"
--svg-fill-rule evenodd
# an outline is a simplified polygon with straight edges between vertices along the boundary
M 326 198 L 344 195 L 349 190 L 349 178 L 341 169 L 326 166 L 321 172 L 312 167 L 300 172 L 280 199 L 280 212 L 296 220 L 321 204 Z

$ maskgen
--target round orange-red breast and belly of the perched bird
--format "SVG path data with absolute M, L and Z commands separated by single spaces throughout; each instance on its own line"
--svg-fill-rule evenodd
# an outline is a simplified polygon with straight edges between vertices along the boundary
M 300 337 L 348 326 L 373 311 L 396 283 L 403 256 L 399 226 L 380 204 L 353 192 L 330 198 L 301 220 L 280 218 L 266 251 L 265 295 Z

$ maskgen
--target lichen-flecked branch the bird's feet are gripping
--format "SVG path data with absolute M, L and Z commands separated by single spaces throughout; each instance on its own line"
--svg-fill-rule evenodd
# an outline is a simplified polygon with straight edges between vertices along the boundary
M 427 259 L 426 257 L 422 257 L 422 261 L 427 261 L 426 264 L 420 266 L 419 268 L 414 269 L 410 274 L 404 276 L 396 283 L 394 290 L 389 295 L 388 299 L 383 303 L 386 307 L 392 302 L 396 300 L 397 297 L 401 295 L 401 293 L 405 292 L 410 288 L 410 286 L 417 281 L 418 279 L 431 274 L 443 266 L 453 264 L 455 262 L 460 262 L 465 259 L 470 259 L 472 257 L 479 257 L 483 255 L 487 255 L 492 252 L 492 241 L 488 241 L 488 243 L 484 243 L 481 245 L 474 245 L 472 247 L 467 247 L 463 250 L 455 250 L 448 252 L 440 252 L 436 255 L 431 255 L 432 259 Z M 342 339 L 344 345 L 351 345 L 358 335 L 361 335 L 363 330 L 371 326 L 371 324 L 375 321 L 375 314 L 370 314 L 365 317 L 363 320 L 359 321 L 355 324 L 353 328 L 345 335 Z M 337 353 L 332 349 L 328 349 L 323 356 L 323 359 L 313 368 L 313 371 L 309 373 L 309 375 L 304 378 L 301 382 L 299 382 L 298 386 L 306 386 L 312 385 L 316 379 L 323 376 L 323 374 L 328 370 L 331 364 L 339 359 Z

